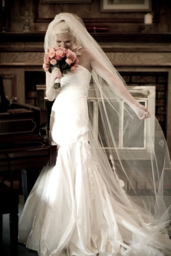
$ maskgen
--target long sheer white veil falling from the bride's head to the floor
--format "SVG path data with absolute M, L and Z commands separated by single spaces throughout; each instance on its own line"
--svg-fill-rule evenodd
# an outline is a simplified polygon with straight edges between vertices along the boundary
M 77 15 L 55 16 L 45 35 L 45 53 L 47 48 L 55 46 L 54 26 L 62 20 L 76 37 L 76 43 L 125 84 Z M 98 116 L 89 102 L 89 142 L 110 193 L 125 247 L 126 244 L 132 247 L 138 244 L 139 248 L 150 245 L 164 255 L 171 255 L 167 235 L 171 207 L 166 205 L 169 194 L 164 187 L 171 180 L 171 163 L 161 127 L 154 116 L 140 119 L 144 111 L 133 105 L 122 90 L 116 90 L 117 84 L 108 85 L 94 71 L 92 77 Z M 93 125 L 95 119 L 96 125 L 100 124 L 98 129 Z M 136 189 L 142 182 L 148 188 L 143 190 L 145 194 L 139 194 Z

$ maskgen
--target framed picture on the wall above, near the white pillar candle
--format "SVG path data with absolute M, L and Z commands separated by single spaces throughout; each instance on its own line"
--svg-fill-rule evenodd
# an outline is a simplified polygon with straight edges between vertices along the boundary
M 101 0 L 101 12 L 149 12 L 151 0 Z

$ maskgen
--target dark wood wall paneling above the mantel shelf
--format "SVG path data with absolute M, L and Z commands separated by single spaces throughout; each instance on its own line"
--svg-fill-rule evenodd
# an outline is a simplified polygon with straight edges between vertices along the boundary
M 170 1 L 152 0 L 153 31 L 171 31 Z M 81 6 L 81 7 L 80 7 Z M 101 12 L 100 0 L 91 3 L 40 3 L 40 0 L 6 1 L 6 29 L 22 32 L 25 12 L 30 15 L 31 31 L 45 31 L 59 12 L 75 13 L 83 18 L 87 26 L 109 26 L 110 33 L 134 32 L 142 29 L 146 12 Z M 2 20 L 0 20 L 2 27 Z

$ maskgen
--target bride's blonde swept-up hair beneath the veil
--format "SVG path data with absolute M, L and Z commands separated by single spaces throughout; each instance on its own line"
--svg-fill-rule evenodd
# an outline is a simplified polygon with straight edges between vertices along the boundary
M 61 20 L 58 24 L 53 26 L 52 33 L 56 36 L 57 34 L 65 34 L 68 33 L 72 37 L 74 35 L 71 33 L 69 26 L 67 26 L 65 20 Z M 77 56 L 80 56 L 81 54 L 79 53 L 79 50 L 82 49 L 83 46 L 78 42 L 78 40 L 74 39 L 73 46 L 71 48 L 71 51 L 74 52 Z

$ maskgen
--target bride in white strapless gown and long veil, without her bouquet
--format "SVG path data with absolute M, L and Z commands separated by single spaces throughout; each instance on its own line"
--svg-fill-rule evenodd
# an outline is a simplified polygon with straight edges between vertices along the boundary
M 56 165 L 43 167 L 26 201 L 19 242 L 40 256 L 171 255 L 170 207 L 163 189 L 171 165 L 157 120 L 129 94 L 76 15 L 56 15 L 44 46 L 45 53 L 55 46 L 74 51 L 79 65 L 69 74 L 58 68 L 46 72 L 46 96 L 50 101 L 57 96 L 49 134 L 58 156 Z M 98 117 L 87 104 L 91 77 Z M 58 92 L 56 78 L 61 79 Z M 97 118 L 99 134 L 92 121 Z M 121 133 L 126 146 L 118 140 Z M 132 180 L 150 184 L 148 196 L 136 194 Z

